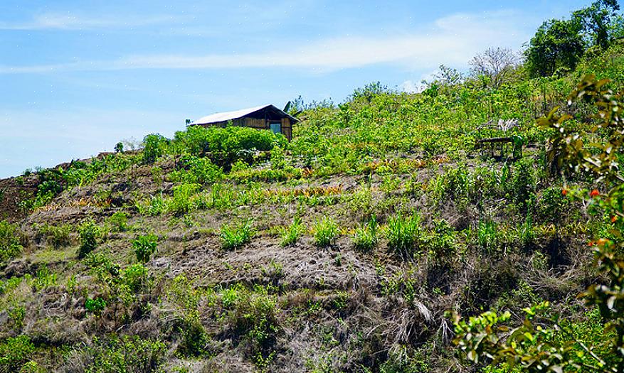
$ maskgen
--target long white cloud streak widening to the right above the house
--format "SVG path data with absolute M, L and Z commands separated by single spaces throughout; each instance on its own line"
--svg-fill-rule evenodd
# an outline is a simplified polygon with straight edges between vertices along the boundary
M 82 61 L 61 65 L 0 66 L 1 74 L 59 70 L 300 68 L 327 72 L 367 65 L 396 65 L 431 70 L 440 63 L 463 66 L 475 53 L 492 45 L 519 48 L 522 14 L 511 11 L 455 14 L 440 18 L 418 33 L 319 40 L 291 50 L 263 53 L 129 55 L 118 60 Z

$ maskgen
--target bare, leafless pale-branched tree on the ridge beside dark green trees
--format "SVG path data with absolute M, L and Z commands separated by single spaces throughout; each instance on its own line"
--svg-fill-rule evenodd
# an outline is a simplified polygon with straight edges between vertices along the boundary
M 487 48 L 470 60 L 473 75 L 483 75 L 490 81 L 490 87 L 500 87 L 507 82 L 516 67 L 519 56 L 509 48 Z

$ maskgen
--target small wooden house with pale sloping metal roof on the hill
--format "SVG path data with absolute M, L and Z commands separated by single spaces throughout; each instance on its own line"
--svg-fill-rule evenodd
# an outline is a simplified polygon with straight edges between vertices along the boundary
M 270 129 L 275 134 L 283 134 L 290 141 L 292 140 L 292 124 L 298 121 L 299 119 L 273 105 L 264 105 L 208 115 L 208 117 L 189 123 L 189 126 L 226 126 L 231 122 L 234 126 Z

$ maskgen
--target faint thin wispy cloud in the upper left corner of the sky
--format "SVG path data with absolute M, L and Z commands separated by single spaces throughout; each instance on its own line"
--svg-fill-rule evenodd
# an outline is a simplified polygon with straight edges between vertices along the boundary
M 176 21 L 176 18 L 174 18 L 173 16 L 144 16 L 132 18 L 128 18 L 125 16 L 92 17 L 74 13 L 43 13 L 34 16 L 30 21 L 16 23 L 0 21 L 0 30 L 79 31 L 100 28 L 134 28 L 171 21 Z

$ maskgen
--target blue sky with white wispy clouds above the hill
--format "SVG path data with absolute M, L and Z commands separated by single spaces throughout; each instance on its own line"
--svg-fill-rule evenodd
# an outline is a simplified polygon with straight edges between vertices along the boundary
M 591 1 L 0 1 L 0 178 L 185 119 L 417 90 Z

